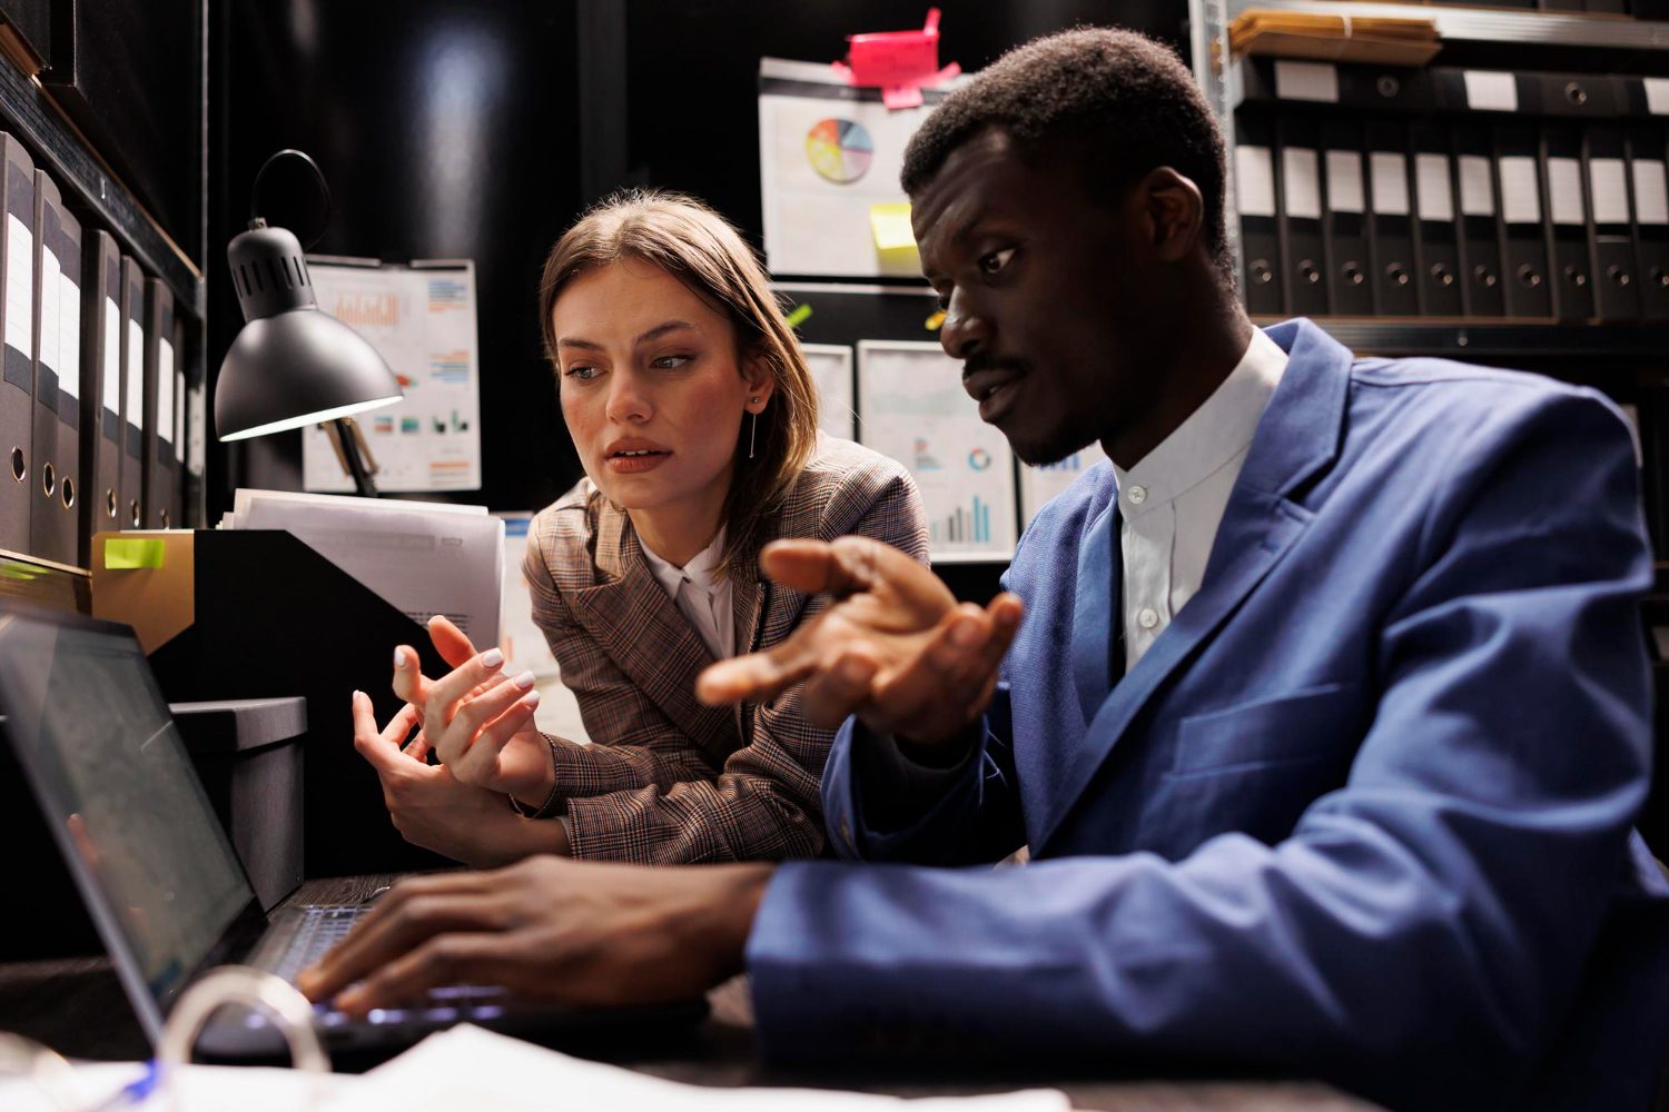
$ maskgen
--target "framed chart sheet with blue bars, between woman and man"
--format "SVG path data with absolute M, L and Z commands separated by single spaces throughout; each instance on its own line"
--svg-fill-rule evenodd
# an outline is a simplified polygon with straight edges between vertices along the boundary
M 1015 463 L 938 343 L 858 343 L 860 440 L 915 475 L 935 560 L 1015 555 Z

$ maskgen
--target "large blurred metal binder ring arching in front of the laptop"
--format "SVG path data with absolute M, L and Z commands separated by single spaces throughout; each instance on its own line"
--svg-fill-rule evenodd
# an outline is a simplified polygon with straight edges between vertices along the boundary
M 157 1069 L 164 1089 L 164 1107 L 179 1109 L 179 1067 L 190 1062 L 192 1045 L 204 1024 L 225 1004 L 260 1009 L 272 1017 L 297 1070 L 329 1075 L 330 1059 L 312 1025 L 312 1004 L 294 985 L 247 965 L 222 965 L 180 994 L 157 1050 Z M 310 1104 L 310 1102 L 309 1102 Z

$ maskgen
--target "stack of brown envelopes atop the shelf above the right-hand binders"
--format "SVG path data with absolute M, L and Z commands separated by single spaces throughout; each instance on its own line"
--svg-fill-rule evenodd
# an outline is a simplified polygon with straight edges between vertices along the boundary
M 1228 25 L 1228 48 L 1235 55 L 1425 65 L 1442 50 L 1442 40 L 1432 18 L 1248 8 Z

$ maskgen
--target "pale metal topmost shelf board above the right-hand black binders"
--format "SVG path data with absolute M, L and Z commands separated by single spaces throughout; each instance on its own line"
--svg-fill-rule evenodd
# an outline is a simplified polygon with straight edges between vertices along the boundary
M 1314 15 L 1409 17 L 1437 23 L 1444 43 L 1517 47 L 1597 47 L 1602 50 L 1669 50 L 1669 22 L 1621 18 L 1534 7 L 1490 8 L 1450 3 L 1374 3 L 1370 0 L 1230 0 L 1232 20 L 1252 8 Z

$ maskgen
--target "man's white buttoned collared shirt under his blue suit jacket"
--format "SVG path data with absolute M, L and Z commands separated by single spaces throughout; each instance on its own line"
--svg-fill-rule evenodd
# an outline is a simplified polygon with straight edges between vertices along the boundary
M 1287 353 L 1262 328 L 1220 387 L 1118 478 L 1125 672 L 1200 590 L 1217 527 Z

